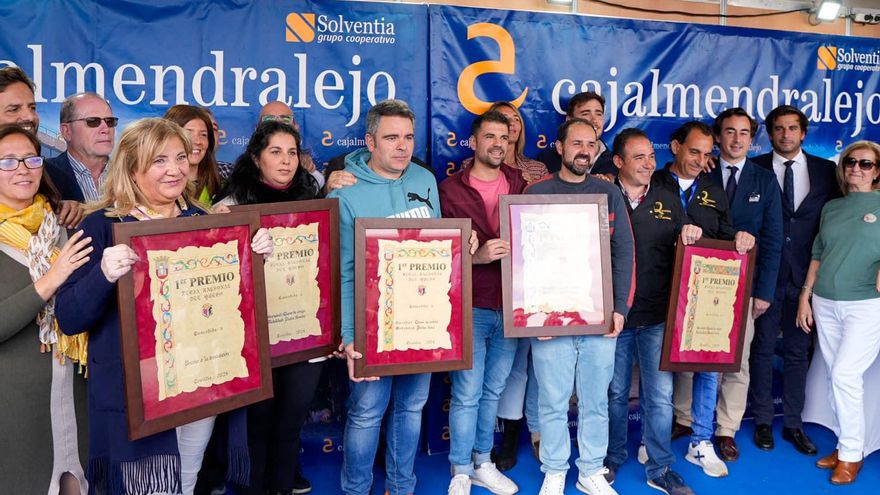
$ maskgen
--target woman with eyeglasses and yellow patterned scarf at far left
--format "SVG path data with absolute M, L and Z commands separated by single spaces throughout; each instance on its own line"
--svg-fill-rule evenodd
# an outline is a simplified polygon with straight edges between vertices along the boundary
M 74 362 L 85 338 L 62 334 L 55 293 L 90 259 L 91 238 L 67 238 L 40 142 L 0 126 L 0 455 L 4 493 L 85 494 L 86 385 Z

